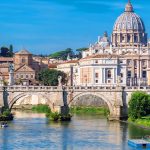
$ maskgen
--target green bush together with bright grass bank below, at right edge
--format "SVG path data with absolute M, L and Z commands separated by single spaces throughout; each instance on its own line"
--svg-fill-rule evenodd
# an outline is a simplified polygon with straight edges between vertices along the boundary
M 150 95 L 142 91 L 132 93 L 128 116 L 128 122 L 150 128 Z

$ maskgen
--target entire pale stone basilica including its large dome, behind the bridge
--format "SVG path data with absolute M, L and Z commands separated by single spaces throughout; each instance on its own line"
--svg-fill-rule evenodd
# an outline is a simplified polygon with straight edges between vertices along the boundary
M 117 18 L 111 38 L 98 37 L 79 60 L 79 85 L 147 86 L 150 83 L 150 43 L 142 19 L 129 1 Z

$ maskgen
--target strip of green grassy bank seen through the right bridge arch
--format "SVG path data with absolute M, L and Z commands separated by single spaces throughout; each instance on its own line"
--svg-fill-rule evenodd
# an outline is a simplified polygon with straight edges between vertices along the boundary
M 107 116 L 109 114 L 109 109 L 105 107 L 71 107 L 71 114 L 95 114 L 95 115 L 104 115 Z

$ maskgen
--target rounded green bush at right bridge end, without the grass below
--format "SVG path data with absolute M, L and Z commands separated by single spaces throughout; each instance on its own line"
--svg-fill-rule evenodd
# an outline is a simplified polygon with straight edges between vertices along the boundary
M 132 93 L 129 102 L 129 117 L 134 120 L 150 114 L 150 95 L 142 91 Z

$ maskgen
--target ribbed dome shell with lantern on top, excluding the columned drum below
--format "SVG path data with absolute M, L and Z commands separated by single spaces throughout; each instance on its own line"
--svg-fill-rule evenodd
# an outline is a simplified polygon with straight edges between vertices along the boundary
M 117 18 L 113 30 L 118 32 L 131 30 L 138 32 L 145 31 L 142 19 L 134 13 L 130 2 L 126 5 L 125 12 Z

